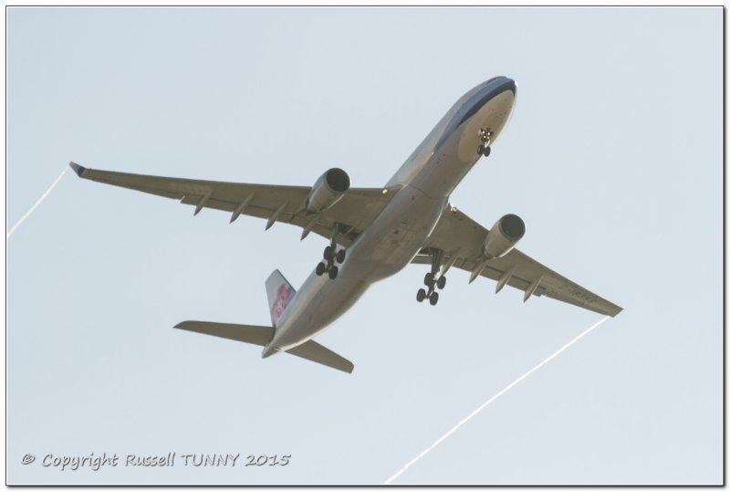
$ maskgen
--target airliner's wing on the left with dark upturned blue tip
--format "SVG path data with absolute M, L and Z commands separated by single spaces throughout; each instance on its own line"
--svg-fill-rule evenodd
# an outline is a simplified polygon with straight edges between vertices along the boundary
M 341 234 L 337 242 L 349 244 L 381 213 L 392 194 L 381 188 L 350 188 L 339 202 L 318 216 L 305 215 L 302 205 L 311 190 L 309 186 L 276 186 L 270 184 L 226 183 L 216 181 L 165 178 L 145 174 L 117 173 L 87 169 L 70 163 L 79 177 L 99 183 L 113 184 L 149 194 L 175 198 L 195 206 L 195 214 L 203 208 L 217 208 L 231 213 L 231 222 L 239 215 L 252 215 L 274 222 L 298 225 L 320 236 L 331 238 L 336 224 Z M 305 235 L 303 234 L 302 237 Z

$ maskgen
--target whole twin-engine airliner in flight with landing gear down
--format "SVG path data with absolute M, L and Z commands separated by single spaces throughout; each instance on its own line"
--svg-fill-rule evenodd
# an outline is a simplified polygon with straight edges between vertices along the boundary
M 350 188 L 348 173 L 329 169 L 313 186 L 224 183 L 87 169 L 71 162 L 79 177 L 180 200 L 195 207 L 302 227 L 329 240 L 320 261 L 295 290 L 275 270 L 266 279 L 271 326 L 183 321 L 177 329 L 264 347 L 262 357 L 287 352 L 343 372 L 354 365 L 312 340 L 373 283 L 407 265 L 429 265 L 416 300 L 435 306 L 455 267 L 476 277 L 524 291 L 524 301 L 547 296 L 611 317 L 622 308 L 537 263 L 516 249 L 525 223 L 502 216 L 491 229 L 449 201 L 480 158 L 492 150 L 515 106 L 516 82 L 489 79 L 458 99 L 382 188 Z

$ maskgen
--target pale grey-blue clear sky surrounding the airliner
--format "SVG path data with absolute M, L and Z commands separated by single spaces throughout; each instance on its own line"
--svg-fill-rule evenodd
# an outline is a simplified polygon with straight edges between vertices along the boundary
M 68 161 L 380 186 L 468 89 L 518 84 L 452 203 L 625 310 L 396 484 L 722 481 L 722 9 L 10 8 L 7 224 Z M 347 375 L 172 330 L 266 324 L 326 241 L 68 173 L 7 244 L 7 479 L 379 484 L 599 315 L 424 267 L 318 337 Z M 44 467 L 47 454 L 292 455 L 288 466 Z M 37 461 L 21 464 L 32 453 Z

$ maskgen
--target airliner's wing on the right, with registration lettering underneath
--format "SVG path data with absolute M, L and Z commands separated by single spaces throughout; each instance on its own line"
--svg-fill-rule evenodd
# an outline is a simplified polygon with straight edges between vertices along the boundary
M 464 213 L 447 205 L 426 248 L 442 250 L 444 264 L 454 261 L 454 267 L 474 272 L 483 264 L 482 245 L 488 232 Z M 422 249 L 412 263 L 430 265 L 428 250 Z M 486 262 L 480 275 L 496 280 L 497 292 L 505 285 L 525 291 L 525 300 L 532 295 L 547 296 L 609 316 L 616 316 L 622 310 L 609 300 L 537 263 L 516 248 L 505 256 Z

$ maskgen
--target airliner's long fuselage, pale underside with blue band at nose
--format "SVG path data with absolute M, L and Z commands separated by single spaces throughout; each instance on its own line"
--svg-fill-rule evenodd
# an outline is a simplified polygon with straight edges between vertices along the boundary
M 279 319 L 264 357 L 300 345 L 347 311 L 378 280 L 399 272 L 422 249 L 449 195 L 481 157 L 480 129 L 494 143 L 515 104 L 516 85 L 490 79 L 459 99 L 385 185 L 395 195 L 348 247 L 334 280 L 315 272 Z

